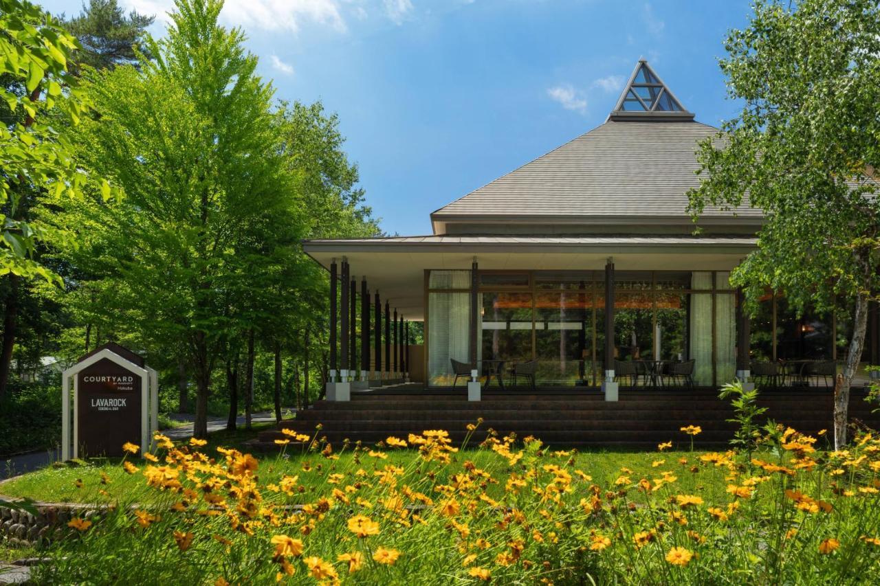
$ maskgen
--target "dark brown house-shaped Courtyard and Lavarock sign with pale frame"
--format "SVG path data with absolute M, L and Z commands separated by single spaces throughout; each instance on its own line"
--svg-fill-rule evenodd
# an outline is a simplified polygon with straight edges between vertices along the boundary
M 110 343 L 64 370 L 62 459 L 79 458 L 80 450 L 82 455 L 121 456 L 126 442 L 140 445 L 143 454 L 156 429 L 158 375 L 141 356 Z

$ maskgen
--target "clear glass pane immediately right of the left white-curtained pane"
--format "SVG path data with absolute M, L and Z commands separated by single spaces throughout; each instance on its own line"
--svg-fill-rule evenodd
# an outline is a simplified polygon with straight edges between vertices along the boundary
M 497 292 L 481 297 L 481 359 L 531 360 L 532 294 Z

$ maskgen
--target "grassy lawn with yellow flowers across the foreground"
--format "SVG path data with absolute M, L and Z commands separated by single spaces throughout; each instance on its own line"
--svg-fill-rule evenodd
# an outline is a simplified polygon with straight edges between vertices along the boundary
M 239 432 L 165 443 L 155 464 L 132 458 L 132 473 L 95 462 L 3 492 L 117 505 L 43 546 L 37 582 L 870 582 L 880 441 L 862 434 L 827 452 L 794 430 L 762 434 L 749 455 L 581 453 L 494 436 L 457 450 L 425 432 L 334 450 L 291 443 L 258 461 L 216 449 Z

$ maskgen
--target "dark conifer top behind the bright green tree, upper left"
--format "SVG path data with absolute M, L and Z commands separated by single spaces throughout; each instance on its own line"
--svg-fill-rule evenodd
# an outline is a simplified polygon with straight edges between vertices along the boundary
M 62 17 L 63 18 L 63 17 Z M 117 65 L 138 66 L 137 53 L 150 56 L 145 46 L 146 28 L 155 17 L 122 11 L 117 0 L 89 0 L 78 16 L 64 20 L 64 27 L 79 40 L 73 54 L 77 67 L 88 65 L 96 70 Z

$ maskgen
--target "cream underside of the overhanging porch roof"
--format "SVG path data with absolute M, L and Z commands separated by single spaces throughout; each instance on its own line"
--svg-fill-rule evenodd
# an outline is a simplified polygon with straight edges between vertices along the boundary
M 424 319 L 425 269 L 470 269 L 475 255 L 474 251 L 464 252 L 460 249 L 423 253 L 359 252 L 356 246 L 351 246 L 342 253 L 338 248 L 321 250 L 316 245 L 310 246 L 307 252 L 328 270 L 334 259 L 341 261 L 345 256 L 352 278 L 356 278 L 358 282 L 358 292 L 361 279 L 366 276 L 370 296 L 378 289 L 383 305 L 387 299 L 392 311 L 396 308 L 406 319 L 412 321 Z M 476 253 L 476 260 L 480 270 L 604 270 L 608 256 L 607 252 L 483 252 Z M 744 256 L 745 253 L 694 253 L 687 250 L 678 253 L 651 253 L 649 250 L 641 250 L 615 253 L 613 259 L 617 271 L 726 271 L 736 267 Z

